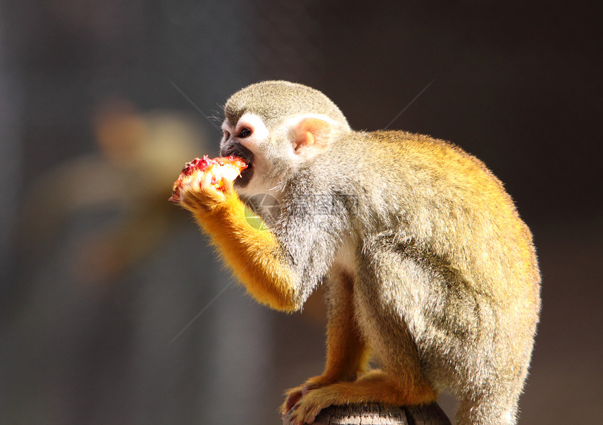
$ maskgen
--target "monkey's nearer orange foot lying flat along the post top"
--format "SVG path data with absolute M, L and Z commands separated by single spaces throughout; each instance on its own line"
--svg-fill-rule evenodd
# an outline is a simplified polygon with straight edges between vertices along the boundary
M 437 396 L 428 384 L 402 388 L 384 372 L 370 372 L 355 382 L 338 382 L 303 394 L 290 412 L 290 421 L 296 425 L 312 424 L 320 410 L 330 405 L 423 405 L 433 402 Z

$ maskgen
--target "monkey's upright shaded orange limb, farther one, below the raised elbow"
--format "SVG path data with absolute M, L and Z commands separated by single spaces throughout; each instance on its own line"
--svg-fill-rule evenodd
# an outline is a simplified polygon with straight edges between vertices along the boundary
M 354 381 L 365 369 L 368 349 L 360 336 L 354 316 L 353 277 L 337 274 L 329 285 L 329 323 L 327 324 L 327 360 L 322 375 L 308 379 L 304 384 L 286 392 L 283 414 L 308 391 L 334 382 Z

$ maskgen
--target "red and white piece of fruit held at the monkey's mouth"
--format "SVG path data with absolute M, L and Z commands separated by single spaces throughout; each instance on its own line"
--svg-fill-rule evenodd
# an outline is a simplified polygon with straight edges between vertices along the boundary
M 245 168 L 247 168 L 247 163 L 234 155 L 213 159 L 208 158 L 208 155 L 204 155 L 203 158 L 195 158 L 184 165 L 182 172 L 174 182 L 174 186 L 172 186 L 172 196 L 169 200 L 173 202 L 180 201 L 182 186 L 189 183 L 196 172 L 210 173 L 212 175 L 212 186 L 216 189 L 222 189 L 224 186 L 222 179 L 233 181 L 240 176 L 240 172 Z

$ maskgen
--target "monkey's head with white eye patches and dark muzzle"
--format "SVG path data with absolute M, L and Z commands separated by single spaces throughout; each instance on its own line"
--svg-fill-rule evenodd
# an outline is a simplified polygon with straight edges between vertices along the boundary
M 327 151 L 346 117 L 323 93 L 302 84 L 264 81 L 236 92 L 224 106 L 222 156 L 248 162 L 235 187 L 244 195 L 278 187 L 292 169 Z

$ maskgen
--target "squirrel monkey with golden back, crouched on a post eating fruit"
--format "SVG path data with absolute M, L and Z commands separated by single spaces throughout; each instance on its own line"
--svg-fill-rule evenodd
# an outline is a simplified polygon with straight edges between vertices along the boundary
M 287 391 L 283 412 L 311 423 L 333 404 L 418 405 L 450 391 L 457 424 L 515 424 L 540 274 L 492 172 L 446 141 L 353 131 L 296 83 L 250 85 L 224 113 L 221 154 L 248 167 L 221 189 L 198 177 L 180 203 L 259 302 L 294 312 L 327 285 L 325 370 Z M 248 223 L 238 194 L 276 199 L 257 206 L 268 230 Z

